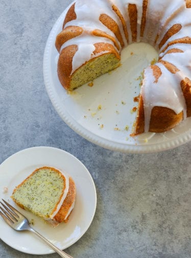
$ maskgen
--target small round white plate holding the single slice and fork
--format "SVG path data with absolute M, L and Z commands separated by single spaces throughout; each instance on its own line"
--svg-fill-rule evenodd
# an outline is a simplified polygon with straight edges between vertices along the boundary
M 37 216 L 19 208 L 10 198 L 13 189 L 36 168 L 55 167 L 66 171 L 76 183 L 76 203 L 67 223 L 53 227 Z M 5 193 L 4 187 L 8 188 Z M 97 195 L 94 182 L 85 166 L 73 155 L 51 147 L 33 147 L 19 151 L 0 165 L 0 198 L 8 200 L 20 212 L 34 222 L 39 231 L 60 249 L 65 249 L 79 240 L 88 229 L 96 211 Z M 53 253 L 32 232 L 18 232 L 0 218 L 0 238 L 9 246 L 31 254 Z

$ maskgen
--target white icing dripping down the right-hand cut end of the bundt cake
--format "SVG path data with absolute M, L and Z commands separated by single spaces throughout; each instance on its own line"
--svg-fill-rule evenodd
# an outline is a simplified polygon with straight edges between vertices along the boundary
M 148 67 L 145 70 L 145 78 L 141 87 L 141 95 L 144 100 L 144 113 L 145 113 L 145 132 L 149 131 L 151 112 L 153 107 L 167 107 L 175 111 L 176 114 L 184 111 L 186 113 L 185 100 L 177 80 L 171 73 L 166 73 L 165 67 L 158 63 L 162 76 L 155 82 L 153 70 Z M 181 80 L 180 80 L 181 81 Z

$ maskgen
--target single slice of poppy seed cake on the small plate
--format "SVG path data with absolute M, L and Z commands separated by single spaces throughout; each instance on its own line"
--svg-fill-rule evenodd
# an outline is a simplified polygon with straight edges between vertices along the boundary
M 75 182 L 58 169 L 36 169 L 13 191 L 11 198 L 50 223 L 67 222 L 75 204 Z

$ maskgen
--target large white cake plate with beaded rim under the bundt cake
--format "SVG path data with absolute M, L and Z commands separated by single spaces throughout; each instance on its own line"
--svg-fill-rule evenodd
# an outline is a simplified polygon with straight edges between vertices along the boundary
M 135 121 L 132 108 L 136 103 L 133 98 L 139 94 L 140 74 L 158 56 L 146 43 L 134 43 L 124 49 L 122 66 L 94 80 L 93 87 L 83 85 L 72 95 L 65 91 L 57 76 L 55 39 L 62 30 L 67 9 L 58 18 L 47 39 L 43 60 L 47 93 L 64 122 L 90 142 L 116 151 L 155 152 L 188 142 L 191 139 L 191 119 L 166 133 L 130 136 Z M 128 131 L 126 126 L 129 126 Z

